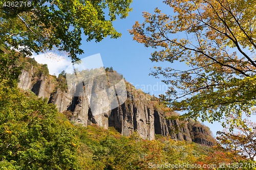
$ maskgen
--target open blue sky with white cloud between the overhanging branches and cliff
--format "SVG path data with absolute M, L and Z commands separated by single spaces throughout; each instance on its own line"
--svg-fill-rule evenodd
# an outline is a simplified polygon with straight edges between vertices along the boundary
M 143 11 L 153 13 L 157 7 L 162 10 L 162 13 L 168 15 L 174 15 L 174 12 L 172 8 L 165 5 L 161 0 L 134 0 L 131 7 L 133 11 L 129 13 L 128 17 L 117 19 L 113 22 L 114 28 L 122 33 L 120 38 L 111 39 L 107 37 L 101 42 L 96 43 L 94 41 L 87 42 L 87 37 L 82 36 L 81 48 L 84 54 L 79 57 L 84 58 L 100 53 L 105 67 L 112 66 L 114 70 L 122 74 L 127 81 L 137 88 L 158 96 L 158 94 L 166 91 L 166 86 L 161 82 L 161 79 L 156 79 L 148 75 L 151 72 L 151 68 L 154 66 L 169 66 L 182 69 L 184 66 L 179 63 L 152 63 L 149 58 L 151 58 L 151 53 L 156 49 L 146 48 L 143 44 L 133 41 L 132 35 L 130 35 L 128 30 L 132 29 L 135 21 L 139 21 L 139 23 L 143 22 Z M 62 70 L 65 70 L 71 62 L 69 58 L 61 59 L 60 57 L 59 59 L 49 59 L 45 55 L 34 55 L 33 57 L 39 63 L 48 64 L 50 74 L 55 74 L 56 76 Z M 204 125 L 208 126 L 214 135 L 218 130 L 223 129 L 220 123 L 204 123 Z

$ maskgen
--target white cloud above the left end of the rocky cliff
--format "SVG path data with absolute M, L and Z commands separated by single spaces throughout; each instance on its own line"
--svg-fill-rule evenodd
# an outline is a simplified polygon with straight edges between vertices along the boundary
M 61 71 L 65 70 L 70 64 L 72 64 L 71 58 L 58 56 L 56 54 L 33 54 L 31 58 L 40 64 L 47 64 L 50 75 L 58 76 Z

